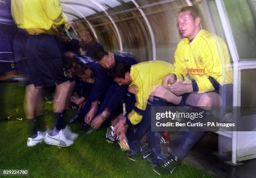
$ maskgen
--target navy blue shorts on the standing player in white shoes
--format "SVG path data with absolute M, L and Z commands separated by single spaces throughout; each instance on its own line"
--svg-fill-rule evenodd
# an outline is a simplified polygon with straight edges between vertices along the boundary
M 48 87 L 68 80 L 54 35 L 29 35 L 18 30 L 14 39 L 17 71 L 28 78 L 28 84 Z

